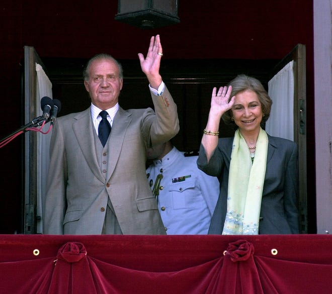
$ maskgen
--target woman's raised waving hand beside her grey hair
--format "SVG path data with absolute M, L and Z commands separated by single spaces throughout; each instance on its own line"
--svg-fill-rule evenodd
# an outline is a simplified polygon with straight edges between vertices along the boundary
M 211 111 L 216 114 L 223 115 L 226 111 L 230 110 L 234 104 L 235 96 L 230 97 L 232 86 L 220 87 L 218 92 L 217 88 L 214 87 L 211 96 Z

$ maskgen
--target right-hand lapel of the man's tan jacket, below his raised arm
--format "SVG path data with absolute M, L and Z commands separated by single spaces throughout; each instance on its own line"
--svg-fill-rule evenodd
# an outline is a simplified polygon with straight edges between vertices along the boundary
M 114 172 L 115 166 L 119 160 L 120 152 L 128 126 L 131 122 L 131 113 L 119 108 L 114 117 L 110 138 L 108 140 L 109 163 L 107 168 L 107 181 Z

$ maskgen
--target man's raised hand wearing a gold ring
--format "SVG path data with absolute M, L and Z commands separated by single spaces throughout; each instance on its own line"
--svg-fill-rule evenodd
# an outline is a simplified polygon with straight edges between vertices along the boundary
M 145 73 L 153 88 L 158 87 L 161 83 L 161 76 L 159 74 L 161 56 L 162 47 L 159 35 L 151 37 L 149 49 L 145 58 L 142 53 L 138 53 L 142 71 Z

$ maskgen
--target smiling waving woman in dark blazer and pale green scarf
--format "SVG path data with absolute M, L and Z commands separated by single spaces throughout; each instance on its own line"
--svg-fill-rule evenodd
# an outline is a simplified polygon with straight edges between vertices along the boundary
M 220 182 L 209 234 L 298 234 L 298 147 L 262 128 L 272 101 L 261 82 L 238 75 L 213 88 L 197 165 Z M 236 128 L 218 138 L 220 119 Z

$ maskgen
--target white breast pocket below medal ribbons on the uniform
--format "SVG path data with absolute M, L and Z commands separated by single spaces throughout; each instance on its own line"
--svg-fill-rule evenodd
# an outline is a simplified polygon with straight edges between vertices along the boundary
M 185 180 L 170 185 L 173 209 L 194 207 L 195 179 Z

